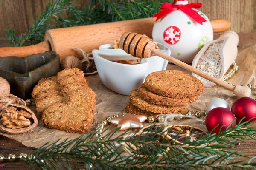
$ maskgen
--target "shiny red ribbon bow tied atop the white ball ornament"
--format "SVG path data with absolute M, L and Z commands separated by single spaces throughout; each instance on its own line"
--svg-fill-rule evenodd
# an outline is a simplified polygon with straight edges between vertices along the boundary
M 166 16 L 167 14 L 180 9 L 180 11 L 183 11 L 189 17 L 192 17 L 196 22 L 203 25 L 203 22 L 206 22 L 207 20 L 205 20 L 201 15 L 199 15 L 196 11 L 194 11 L 192 9 L 192 8 L 198 9 L 201 7 L 202 7 L 201 3 L 189 3 L 186 5 L 183 5 L 183 4 L 174 5 L 174 4 L 164 2 L 160 8 L 161 11 L 158 12 L 157 14 L 155 14 L 153 17 L 157 17 L 157 20 L 159 20 L 161 17 Z

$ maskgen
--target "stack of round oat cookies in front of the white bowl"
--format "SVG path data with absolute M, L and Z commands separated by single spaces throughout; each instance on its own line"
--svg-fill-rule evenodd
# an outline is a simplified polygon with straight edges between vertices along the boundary
M 126 111 L 132 114 L 186 113 L 187 105 L 204 92 L 203 83 L 182 71 L 162 70 L 149 74 L 143 85 L 129 95 Z

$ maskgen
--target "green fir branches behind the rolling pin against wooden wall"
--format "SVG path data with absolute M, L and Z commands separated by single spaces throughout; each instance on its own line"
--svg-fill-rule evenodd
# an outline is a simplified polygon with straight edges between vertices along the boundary
M 44 40 L 44 33 L 52 28 L 83 26 L 120 20 L 152 17 L 165 0 L 91 0 L 80 9 L 71 0 L 54 0 L 34 20 L 26 33 L 16 36 L 15 30 L 5 30 L 12 46 L 37 44 Z M 169 0 L 172 3 L 173 0 Z M 66 12 L 67 16 L 62 17 Z

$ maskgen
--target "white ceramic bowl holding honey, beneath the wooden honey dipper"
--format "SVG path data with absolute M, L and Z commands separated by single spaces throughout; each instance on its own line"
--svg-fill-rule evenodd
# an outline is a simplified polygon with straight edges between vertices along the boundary
M 158 43 L 159 51 L 170 55 L 171 51 Z M 155 71 L 165 70 L 168 61 L 158 56 L 146 59 L 133 57 L 122 49 L 110 49 L 111 44 L 93 50 L 93 58 L 99 78 L 108 89 L 128 96 L 132 89 L 140 87 L 145 77 Z

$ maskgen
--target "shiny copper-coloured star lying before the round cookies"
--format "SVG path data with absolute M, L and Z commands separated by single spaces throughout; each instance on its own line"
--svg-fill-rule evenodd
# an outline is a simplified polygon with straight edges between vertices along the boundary
M 120 116 L 111 119 L 111 124 L 121 127 L 120 131 L 127 129 L 140 129 L 143 127 L 143 122 L 148 119 L 145 115 L 132 115 L 126 113 L 125 116 Z

